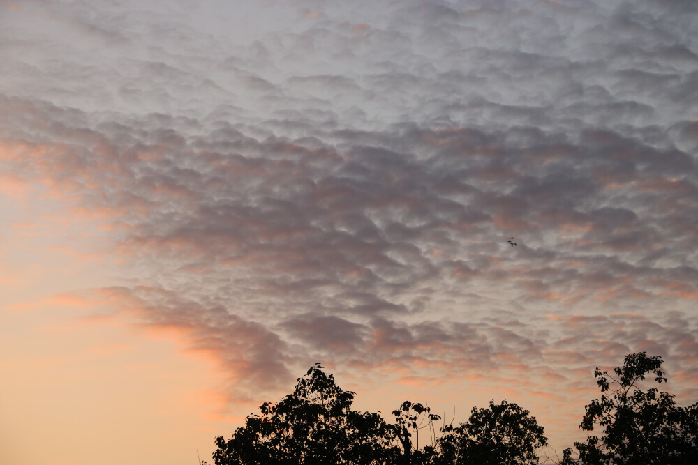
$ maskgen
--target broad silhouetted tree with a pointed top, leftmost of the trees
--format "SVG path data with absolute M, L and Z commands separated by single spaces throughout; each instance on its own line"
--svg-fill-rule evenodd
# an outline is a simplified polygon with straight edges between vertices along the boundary
M 378 413 L 352 411 L 354 392 L 315 364 L 280 402 L 265 402 L 229 441 L 216 438 L 216 465 L 383 464 L 395 455 L 391 425 Z

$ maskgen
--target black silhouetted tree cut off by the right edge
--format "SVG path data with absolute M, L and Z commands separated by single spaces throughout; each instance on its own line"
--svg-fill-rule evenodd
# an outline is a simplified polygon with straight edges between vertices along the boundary
M 586 406 L 581 429 L 601 427 L 603 436 L 574 443 L 583 464 L 698 464 L 698 404 L 676 406 L 674 395 L 657 388 L 641 390 L 639 382 L 654 376 L 666 382 L 662 358 L 631 353 L 614 375 L 597 368 L 603 393 Z M 570 459 L 570 450 L 565 450 Z M 572 462 L 570 460 L 570 462 Z

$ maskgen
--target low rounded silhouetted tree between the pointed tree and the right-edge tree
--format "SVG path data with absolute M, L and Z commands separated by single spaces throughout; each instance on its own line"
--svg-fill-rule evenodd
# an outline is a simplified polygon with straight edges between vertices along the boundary
M 443 464 L 537 464 L 535 451 L 547 444 L 543 427 L 517 404 L 489 402 L 488 409 L 473 407 L 467 422 L 443 428 L 437 441 Z

